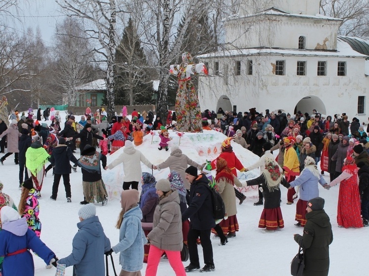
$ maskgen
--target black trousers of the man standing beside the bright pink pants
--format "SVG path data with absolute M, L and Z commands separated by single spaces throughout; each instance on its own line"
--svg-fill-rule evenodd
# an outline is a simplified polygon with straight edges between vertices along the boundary
M 192 229 L 190 224 L 188 235 L 187 235 L 187 245 L 189 252 L 189 261 L 192 265 L 199 267 L 199 257 L 197 251 L 196 239 L 200 237 L 202 251 L 204 255 L 204 263 L 206 265 L 214 265 L 213 261 L 213 247 L 210 240 L 211 229 L 207 230 L 196 230 Z

